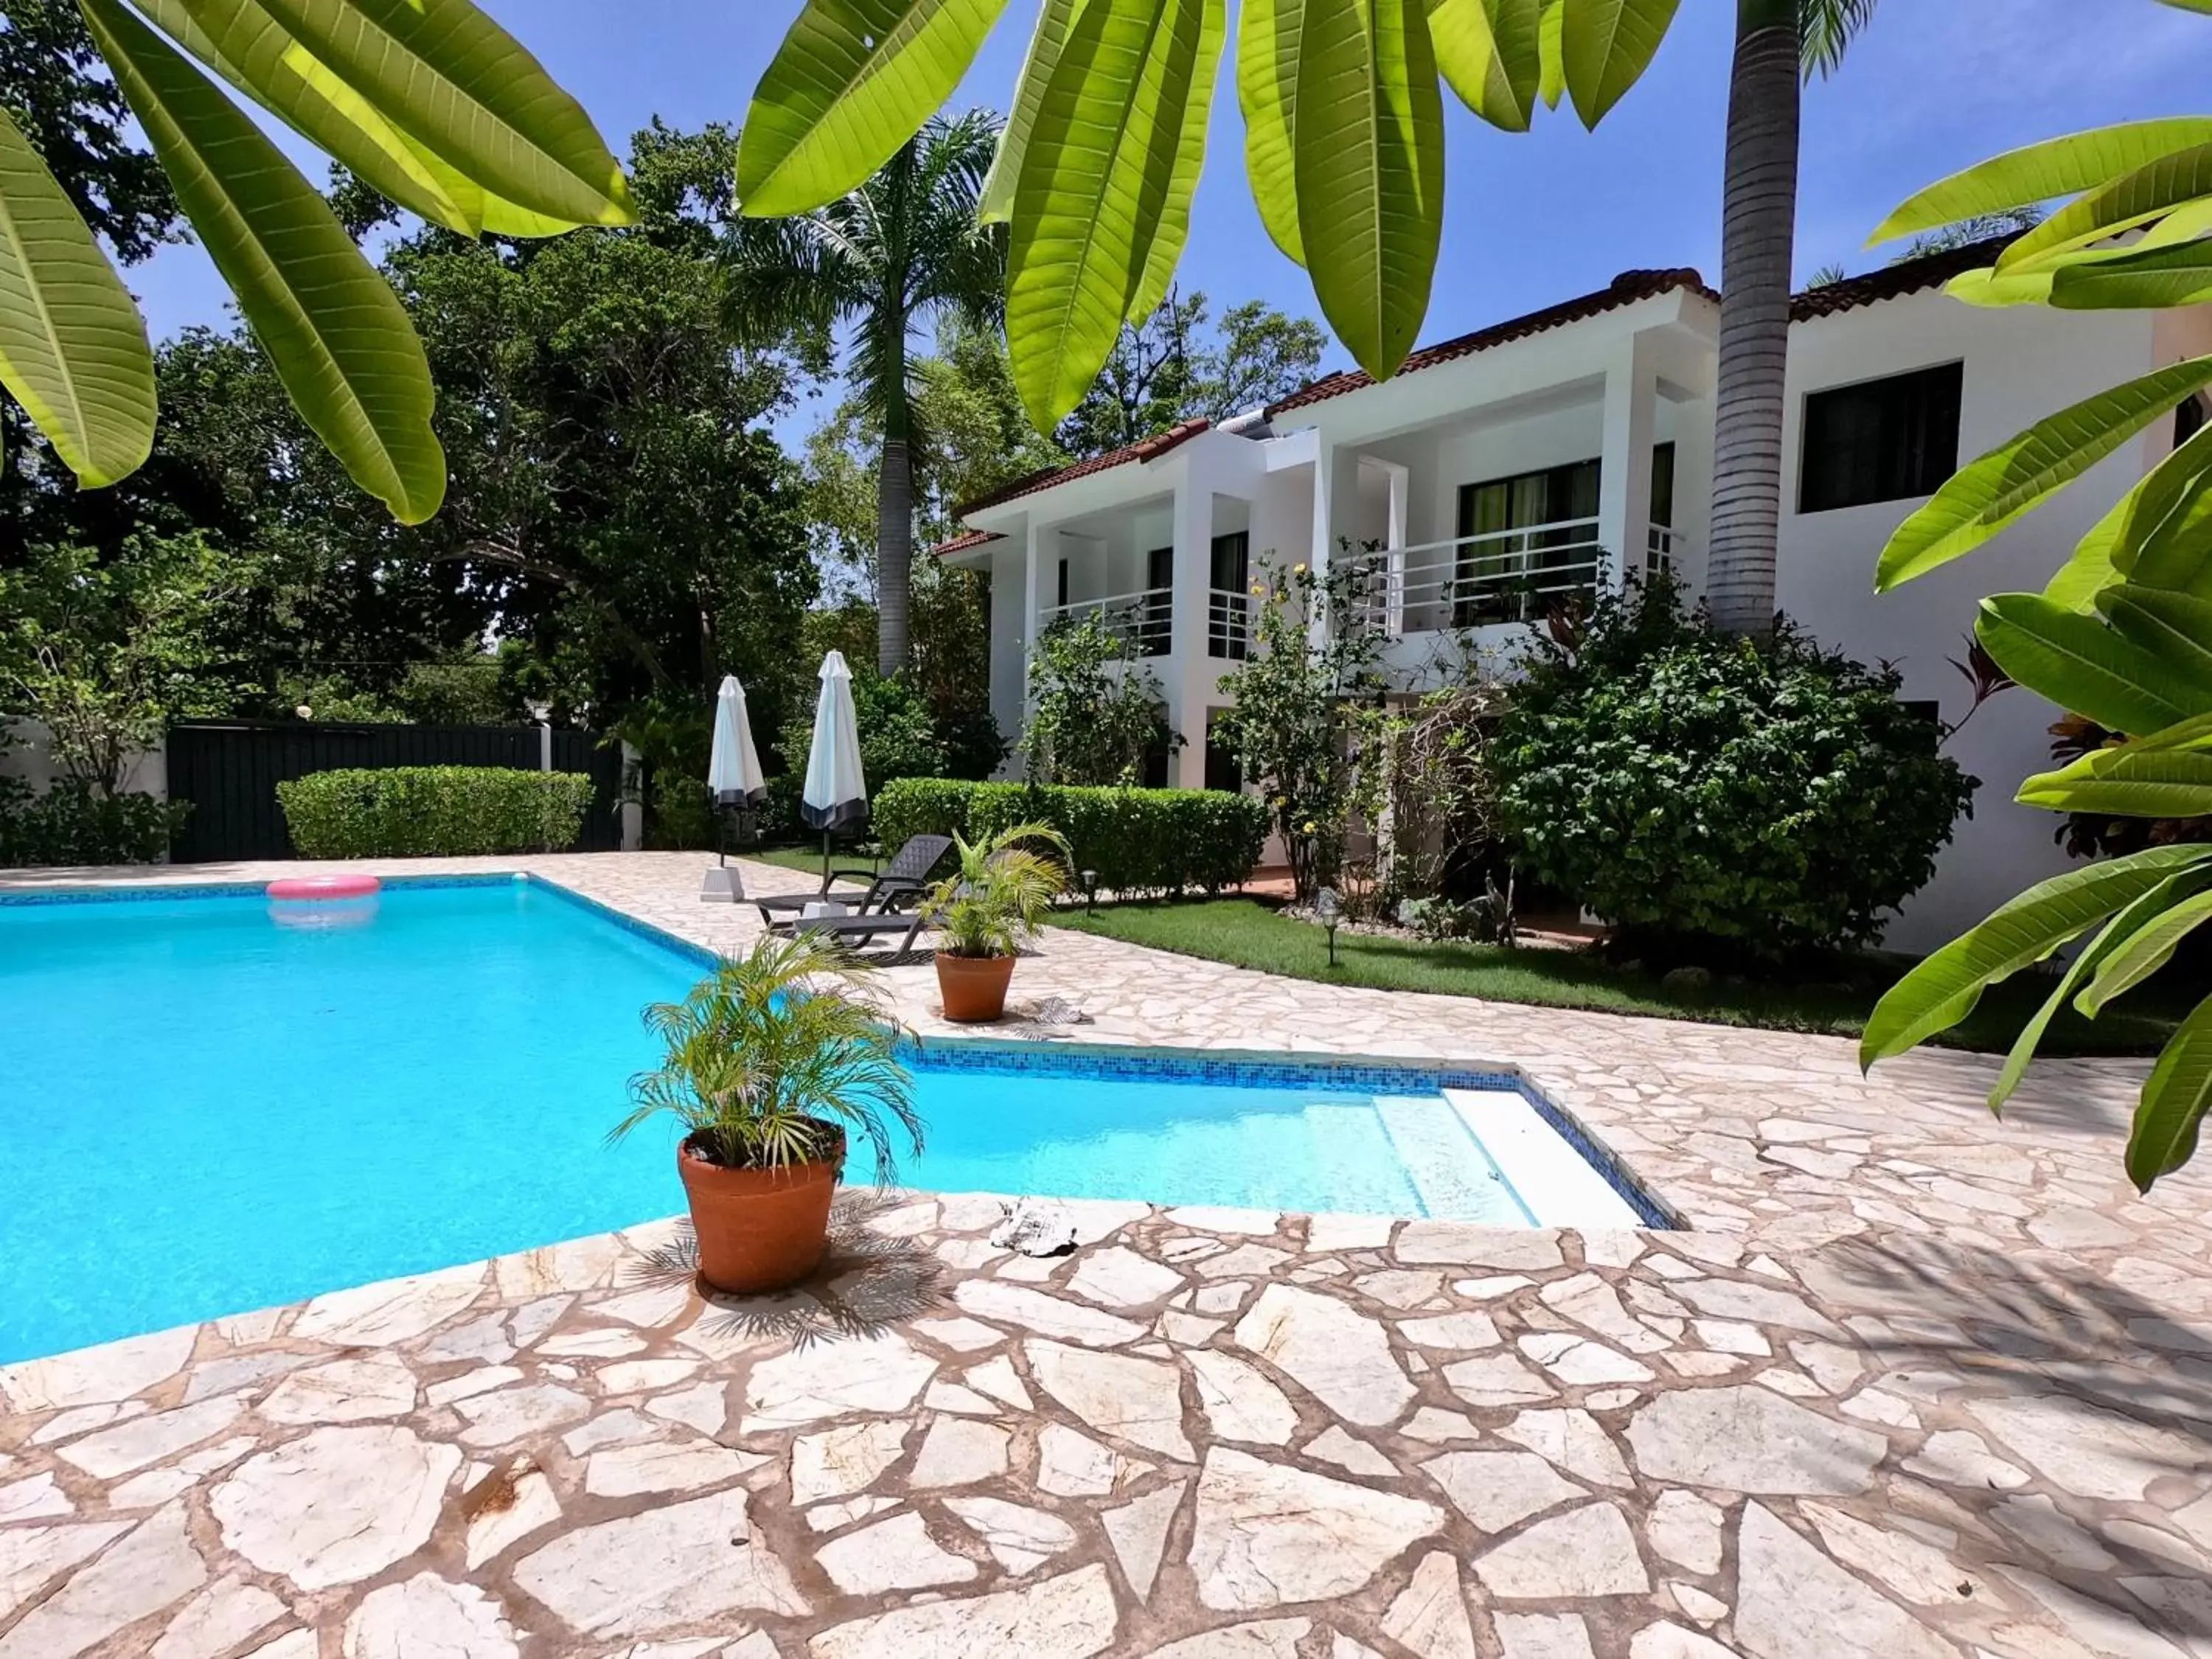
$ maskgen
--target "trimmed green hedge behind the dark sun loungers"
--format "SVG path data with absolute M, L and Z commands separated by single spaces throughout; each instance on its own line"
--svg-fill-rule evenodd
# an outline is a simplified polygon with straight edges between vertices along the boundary
M 1225 790 L 896 779 L 874 803 L 885 849 L 918 834 L 978 841 L 1029 821 L 1068 838 L 1071 883 L 1095 869 L 1099 889 L 1119 894 L 1217 894 L 1252 874 L 1267 841 L 1267 803 Z

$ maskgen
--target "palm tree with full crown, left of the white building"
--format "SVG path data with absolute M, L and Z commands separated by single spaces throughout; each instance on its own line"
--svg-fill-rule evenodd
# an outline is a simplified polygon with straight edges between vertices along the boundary
M 743 219 L 730 239 L 732 321 L 759 345 L 845 334 L 845 376 L 883 431 L 876 467 L 876 666 L 907 664 L 914 568 L 911 358 L 940 312 L 995 327 L 1006 234 L 975 217 L 998 117 L 931 117 L 860 188 L 792 219 Z

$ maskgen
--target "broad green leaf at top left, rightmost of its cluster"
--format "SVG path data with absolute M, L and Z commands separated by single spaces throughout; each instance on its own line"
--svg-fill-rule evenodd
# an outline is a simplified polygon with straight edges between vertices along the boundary
M 392 126 L 478 188 L 573 226 L 630 223 L 582 106 L 469 0 L 261 0 Z

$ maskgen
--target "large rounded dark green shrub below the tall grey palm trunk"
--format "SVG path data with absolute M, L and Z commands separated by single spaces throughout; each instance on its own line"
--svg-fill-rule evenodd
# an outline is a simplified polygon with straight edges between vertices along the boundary
M 1865 942 L 1975 779 L 1898 675 L 1683 617 L 1670 582 L 1540 639 L 1491 743 L 1522 872 L 1624 942 L 1778 958 Z

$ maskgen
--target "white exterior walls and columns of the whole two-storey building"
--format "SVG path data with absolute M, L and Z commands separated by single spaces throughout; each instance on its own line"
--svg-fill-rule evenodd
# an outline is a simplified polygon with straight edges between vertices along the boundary
M 1159 460 L 1091 473 L 975 515 L 980 529 L 1009 538 L 978 555 L 993 571 L 993 712 L 1009 734 L 1020 730 L 1026 619 L 1018 595 L 1026 591 L 1035 606 L 1048 608 L 1053 560 L 1062 551 L 1073 560 L 1071 599 L 1133 593 L 1144 586 L 1144 551 L 1170 544 L 1181 522 L 1175 653 L 1146 666 L 1177 730 L 1190 739 L 1172 776 L 1201 783 L 1206 710 L 1223 701 L 1219 675 L 1234 666 L 1206 657 L 1206 613 L 1188 604 L 1206 588 L 1208 540 L 1248 524 L 1254 571 L 1270 555 L 1283 564 L 1323 560 L 1338 538 L 1387 540 L 1389 473 L 1376 465 L 1363 469 L 1363 458 L 1402 469 L 1400 544 L 1422 546 L 1455 535 L 1462 484 L 1601 456 L 1606 535 L 1635 542 L 1617 549 L 1617 557 L 1641 568 L 1648 498 L 1635 491 L 1644 489 L 1644 473 L 1628 473 L 1624 489 L 1619 478 L 1628 469 L 1619 462 L 1641 449 L 1641 438 L 1672 442 L 1681 575 L 1692 595 L 1701 593 L 1714 332 L 1717 307 L 1703 296 L 1646 299 L 1287 411 L 1283 431 L 1267 440 L 1203 434 Z M 1980 597 L 2042 588 L 2081 533 L 2168 451 L 2170 422 L 2157 422 L 2141 442 L 2104 460 L 1993 544 L 1893 595 L 1876 595 L 1876 555 L 1920 500 L 1796 513 L 1805 396 L 1962 361 L 1960 462 L 1966 462 L 2070 403 L 2208 352 L 2212 307 L 2157 319 L 1991 312 L 1929 290 L 1798 323 L 1790 349 L 1781 608 L 1823 644 L 1863 661 L 1896 661 L 1905 697 L 1936 701 L 1947 721 L 1958 721 L 1969 690 L 1951 659 L 1964 657 Z M 1046 566 L 1035 575 L 1026 568 L 1031 540 Z M 1197 560 L 1194 571 L 1183 568 L 1186 555 Z M 1482 635 L 1486 661 L 1500 666 L 1520 630 Z M 1442 635 L 1409 637 L 1394 661 L 1418 670 L 1433 661 L 1436 639 Z M 2048 763 L 2053 719 L 2057 710 L 2042 699 L 2008 690 L 1953 739 L 1949 752 L 1982 779 L 1975 812 L 1960 821 L 1933 883 L 1891 925 L 1889 945 L 1933 949 L 2024 885 L 2068 865 L 2053 841 L 2057 816 L 2011 801 L 2020 779 Z

